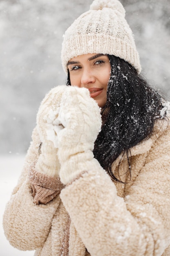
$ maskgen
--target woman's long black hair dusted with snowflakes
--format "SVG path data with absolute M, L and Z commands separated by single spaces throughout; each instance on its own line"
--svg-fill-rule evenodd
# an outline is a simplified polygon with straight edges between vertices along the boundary
M 102 109 L 104 120 L 93 153 L 110 177 L 121 182 L 111 165 L 121 152 L 128 157 L 130 148 L 151 134 L 155 118 L 160 115 L 161 96 L 128 62 L 113 55 L 108 58 L 111 75 L 106 106 Z

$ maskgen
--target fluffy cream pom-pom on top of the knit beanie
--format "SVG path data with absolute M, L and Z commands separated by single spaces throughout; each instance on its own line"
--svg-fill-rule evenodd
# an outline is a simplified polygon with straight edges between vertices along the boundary
M 90 10 L 102 10 L 103 8 L 119 11 L 125 17 L 125 9 L 118 0 L 94 0 L 90 6 Z

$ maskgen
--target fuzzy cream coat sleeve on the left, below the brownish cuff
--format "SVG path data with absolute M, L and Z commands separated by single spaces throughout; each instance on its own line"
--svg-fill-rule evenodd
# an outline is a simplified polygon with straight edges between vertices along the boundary
M 51 229 L 51 220 L 60 203 L 59 196 L 46 205 L 33 203 L 28 172 L 30 164 L 38 158 L 39 146 L 40 139 L 35 128 L 23 171 L 3 216 L 4 233 L 11 245 L 20 250 L 34 250 L 43 246 Z

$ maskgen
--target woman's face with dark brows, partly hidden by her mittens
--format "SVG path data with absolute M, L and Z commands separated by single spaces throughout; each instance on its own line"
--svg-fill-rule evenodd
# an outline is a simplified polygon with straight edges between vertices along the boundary
M 111 71 L 108 56 L 84 54 L 72 58 L 67 66 L 71 85 L 87 88 L 99 107 L 104 107 Z

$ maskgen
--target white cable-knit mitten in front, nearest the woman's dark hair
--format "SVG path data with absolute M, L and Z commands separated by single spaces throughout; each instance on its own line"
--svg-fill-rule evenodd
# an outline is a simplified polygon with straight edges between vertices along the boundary
M 84 171 L 99 165 L 94 158 L 94 142 L 101 129 L 100 108 L 86 88 L 69 86 L 64 90 L 57 117 L 60 180 L 68 184 Z

